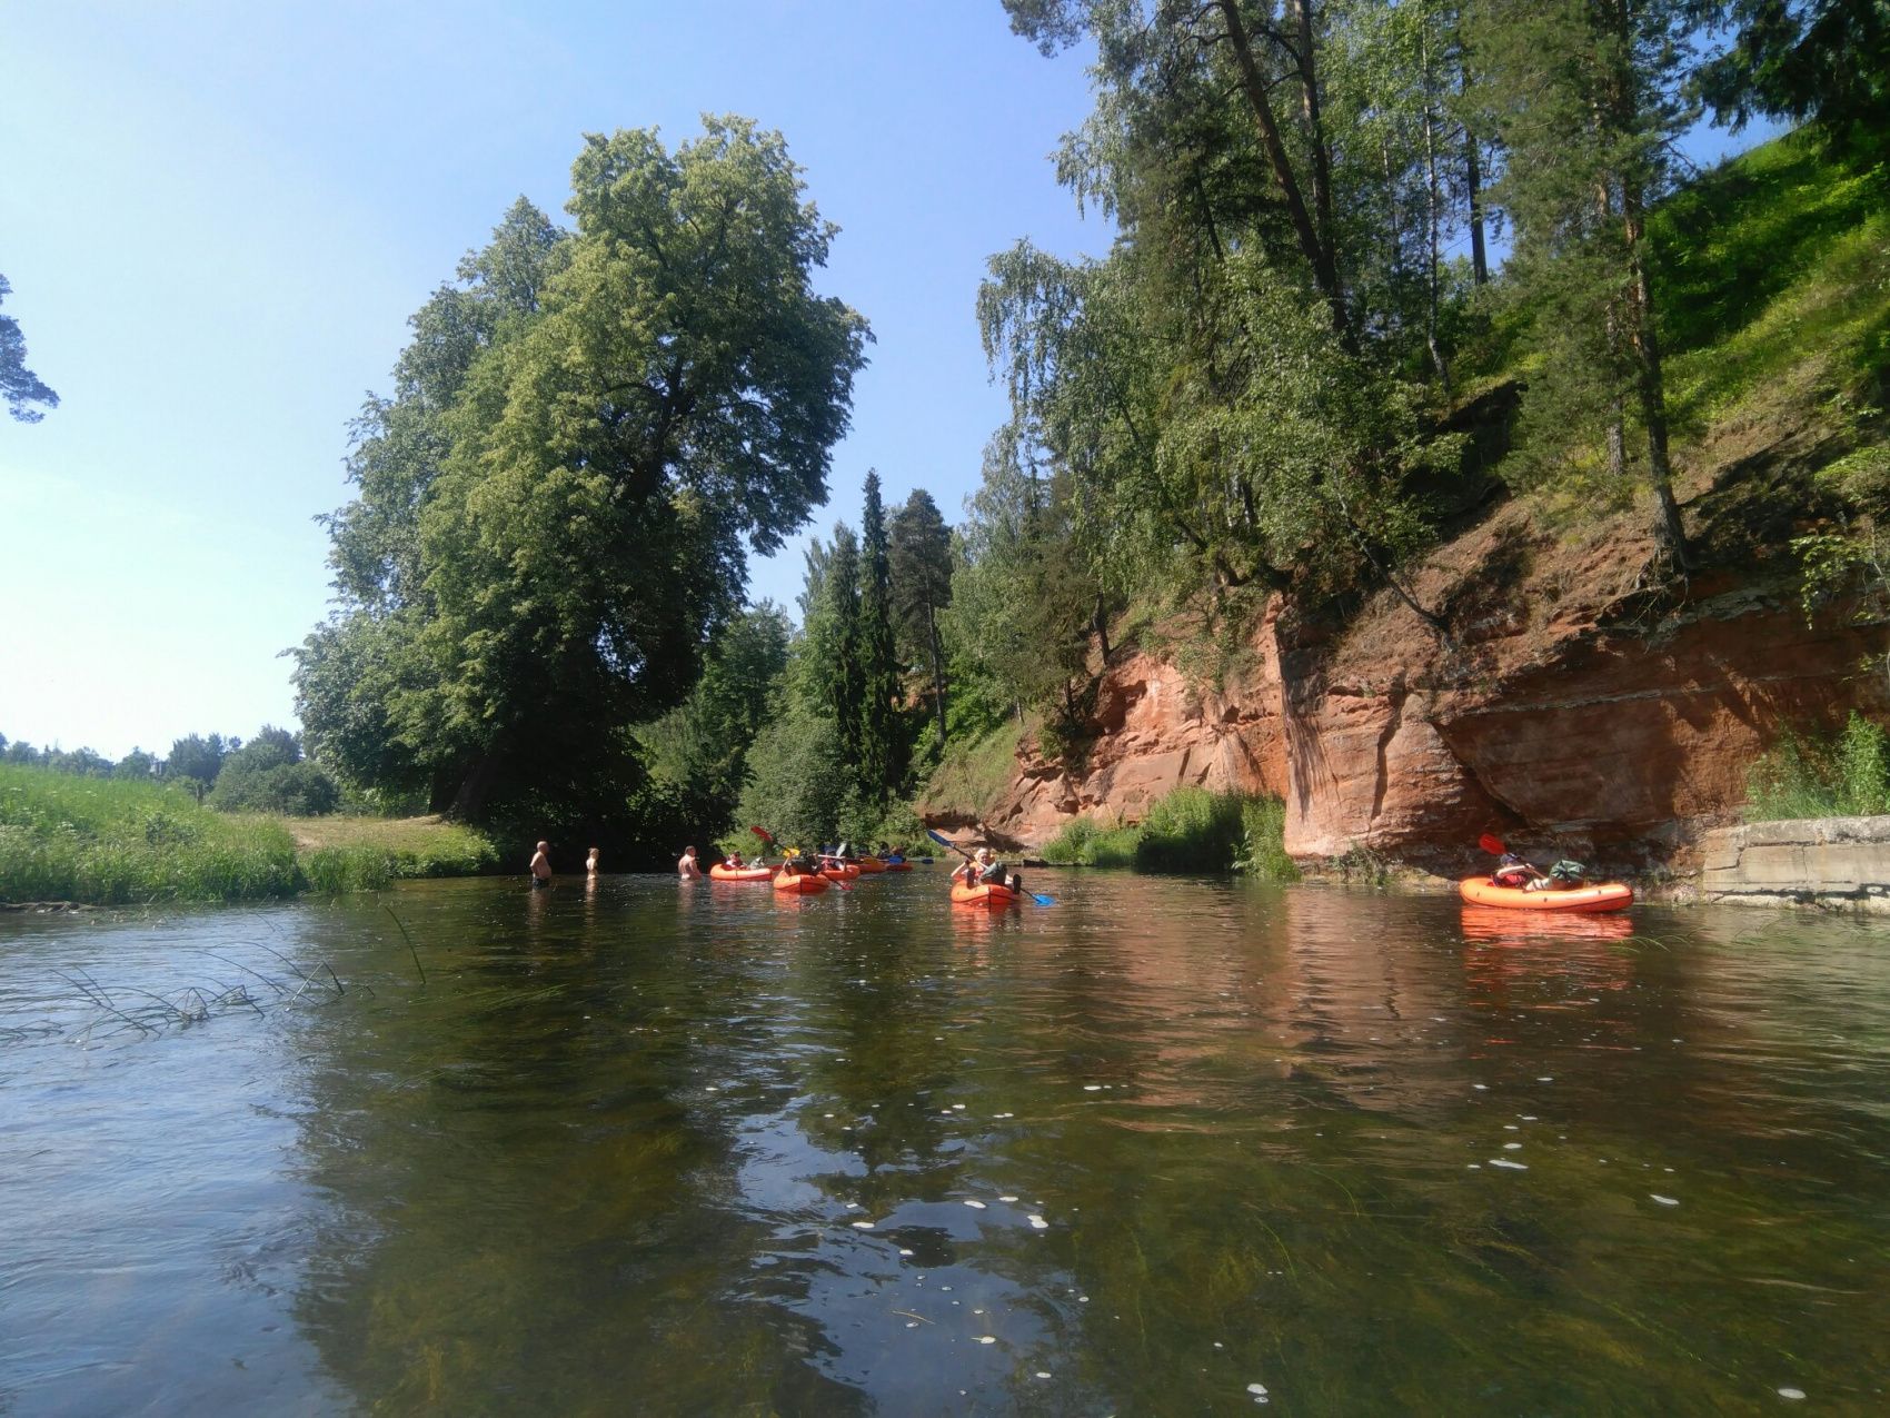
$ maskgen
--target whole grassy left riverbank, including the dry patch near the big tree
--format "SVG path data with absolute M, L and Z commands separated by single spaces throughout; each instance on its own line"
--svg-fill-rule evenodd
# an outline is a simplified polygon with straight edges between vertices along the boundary
M 0 902 L 253 900 L 491 860 L 486 838 L 435 821 L 225 815 L 174 785 L 0 764 Z

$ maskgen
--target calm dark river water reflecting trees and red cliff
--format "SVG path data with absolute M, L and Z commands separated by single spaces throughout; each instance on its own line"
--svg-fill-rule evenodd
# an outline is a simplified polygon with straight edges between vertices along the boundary
M 1032 885 L 0 917 L 0 1412 L 1890 1407 L 1882 926 Z

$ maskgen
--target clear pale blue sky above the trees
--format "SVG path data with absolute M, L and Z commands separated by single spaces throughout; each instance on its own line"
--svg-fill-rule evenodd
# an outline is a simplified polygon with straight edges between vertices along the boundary
M 582 132 L 750 115 L 841 225 L 822 285 L 877 344 L 820 533 L 869 467 L 958 516 L 1004 414 L 985 257 L 1109 240 L 1047 161 L 1083 61 L 998 0 L 60 0 L 4 53 L 6 312 L 60 406 L 0 416 L 0 734 L 113 758 L 293 724 L 344 425 L 514 197 L 561 217 Z M 799 546 L 750 592 L 790 603 Z

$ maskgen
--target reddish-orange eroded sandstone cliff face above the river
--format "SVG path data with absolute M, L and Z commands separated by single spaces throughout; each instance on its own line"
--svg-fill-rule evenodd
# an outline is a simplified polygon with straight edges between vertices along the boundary
M 1495 830 L 1535 853 L 1671 860 L 1735 815 L 1782 728 L 1881 709 L 1862 664 L 1884 631 L 1807 624 L 1786 575 L 1663 599 L 1642 550 L 1561 546 L 1499 514 L 1412 586 L 1444 607 L 1448 643 L 1387 594 L 1331 641 L 1276 607 L 1221 692 L 1125 654 L 1087 758 L 1021 752 L 979 828 L 1038 847 L 1075 815 L 1136 822 L 1194 783 L 1283 796 L 1300 858 L 1365 847 L 1455 870 Z

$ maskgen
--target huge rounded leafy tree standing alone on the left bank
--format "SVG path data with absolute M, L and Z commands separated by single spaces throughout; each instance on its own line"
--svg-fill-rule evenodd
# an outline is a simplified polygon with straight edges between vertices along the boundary
M 826 497 L 866 323 L 813 291 L 833 229 L 779 134 L 709 119 L 586 138 L 575 234 L 516 206 L 416 316 L 357 425 L 340 611 L 299 652 L 302 720 L 437 807 L 622 811 L 629 728 L 680 701 Z

